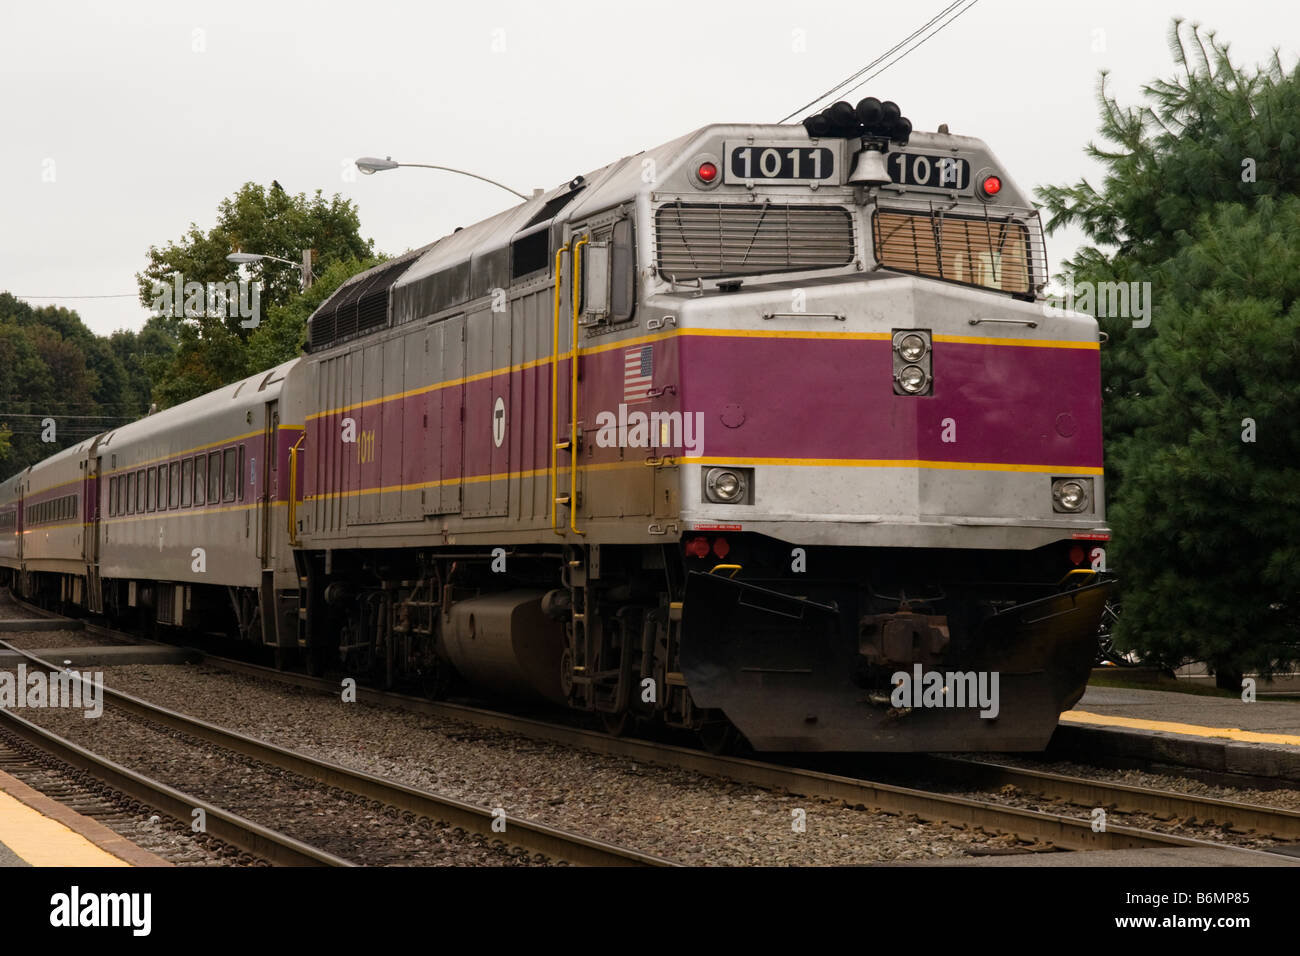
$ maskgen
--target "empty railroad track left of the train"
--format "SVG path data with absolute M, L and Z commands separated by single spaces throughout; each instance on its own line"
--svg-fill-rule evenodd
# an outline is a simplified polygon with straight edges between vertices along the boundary
M 36 654 L 14 648 L 0 641 L 0 648 L 13 650 L 30 665 L 47 671 L 62 667 L 44 661 Z M 547 861 L 564 861 L 576 865 L 593 866 L 663 866 L 671 861 L 619 847 L 604 840 L 597 840 L 581 834 L 517 818 L 503 818 L 499 813 L 476 806 L 430 791 L 407 787 L 382 778 L 352 770 L 338 763 L 330 763 L 307 754 L 277 747 L 229 731 L 205 721 L 157 706 L 131 695 L 104 687 L 105 705 L 178 732 L 186 737 L 204 741 L 221 750 L 269 765 L 280 771 L 306 778 L 320 787 L 337 788 L 363 801 L 373 801 L 386 810 L 399 814 L 412 814 L 464 830 L 491 842 L 500 843 L 516 852 L 542 857 Z M 51 731 L 36 726 L 12 710 L 0 709 L 0 719 L 8 722 L 9 730 L 27 740 L 34 747 L 57 756 L 60 760 L 90 771 L 95 777 L 122 792 L 130 793 L 142 803 L 148 803 L 178 819 L 188 821 L 195 809 L 202 809 L 207 818 L 208 832 L 255 856 L 282 865 L 352 865 L 347 858 L 317 849 L 300 840 L 285 836 L 270 827 L 257 825 L 220 809 L 191 795 L 182 793 L 166 784 L 138 774 L 113 761 L 99 757 L 83 747 L 65 740 Z M 504 831 L 498 831 L 500 821 Z M 497 826 L 494 827 L 494 823 Z

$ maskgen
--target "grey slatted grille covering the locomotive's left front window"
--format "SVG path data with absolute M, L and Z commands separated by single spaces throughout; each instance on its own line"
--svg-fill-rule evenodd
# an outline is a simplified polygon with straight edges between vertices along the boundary
M 853 217 L 836 206 L 671 203 L 655 213 L 659 272 L 673 278 L 829 269 L 853 261 Z

